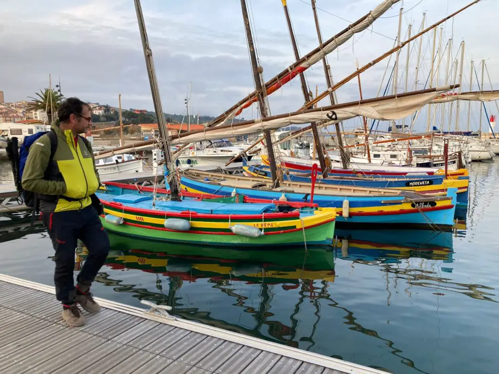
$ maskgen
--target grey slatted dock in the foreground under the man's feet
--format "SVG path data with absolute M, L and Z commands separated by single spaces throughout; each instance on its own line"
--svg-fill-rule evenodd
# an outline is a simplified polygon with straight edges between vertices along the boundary
M 98 298 L 103 310 L 69 328 L 53 294 L 0 274 L 0 373 L 385 373 Z

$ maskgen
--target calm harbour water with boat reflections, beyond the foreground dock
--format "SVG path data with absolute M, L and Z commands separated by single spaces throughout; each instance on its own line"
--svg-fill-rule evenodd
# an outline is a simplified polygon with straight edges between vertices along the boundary
M 1 183 L 11 183 L 0 164 Z M 391 373 L 496 373 L 499 162 L 474 163 L 454 232 L 336 230 L 334 246 L 237 250 L 111 236 L 93 293 Z M 0 273 L 52 285 L 53 249 L 0 215 Z M 75 274 L 85 260 L 79 247 Z

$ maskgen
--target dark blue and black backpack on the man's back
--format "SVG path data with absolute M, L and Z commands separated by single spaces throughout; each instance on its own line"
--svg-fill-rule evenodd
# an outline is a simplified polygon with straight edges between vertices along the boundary
M 12 138 L 7 141 L 7 156 L 10 160 L 12 166 L 12 173 L 14 175 L 14 184 L 17 192 L 19 193 L 19 198 L 22 198 L 24 204 L 27 207 L 38 210 L 39 201 L 36 193 L 32 191 L 27 191 L 22 188 L 22 174 L 24 172 L 24 166 L 26 165 L 26 160 L 29 155 L 29 149 L 33 145 L 36 140 L 38 140 L 43 135 L 47 134 L 50 139 L 50 158 L 48 160 L 48 165 L 52 163 L 52 160 L 55 155 L 55 151 L 57 150 L 57 134 L 55 131 L 45 131 L 38 132 L 36 134 L 27 136 L 24 138 L 22 145 L 17 148 L 18 140 L 17 138 Z

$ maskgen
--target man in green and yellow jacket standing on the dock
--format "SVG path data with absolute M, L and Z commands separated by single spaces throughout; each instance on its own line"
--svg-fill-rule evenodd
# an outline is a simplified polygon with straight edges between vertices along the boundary
M 49 162 L 53 143 L 47 133 L 30 147 L 22 187 L 38 194 L 42 220 L 52 239 L 55 292 L 62 303 L 62 318 L 70 326 L 82 326 L 85 317 L 77 304 L 90 313 L 100 310 L 90 286 L 109 252 L 109 238 L 90 197 L 100 186 L 92 147 L 79 136 L 92 124 L 90 107 L 71 97 L 64 100 L 57 115 L 59 123 L 51 126 L 57 139 L 52 161 Z M 73 270 L 78 239 L 87 247 L 88 257 L 75 287 Z

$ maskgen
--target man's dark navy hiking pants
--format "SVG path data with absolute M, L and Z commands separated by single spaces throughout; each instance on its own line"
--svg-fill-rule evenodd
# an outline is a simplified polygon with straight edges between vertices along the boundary
M 73 271 L 77 240 L 85 244 L 88 256 L 76 281 L 88 290 L 109 253 L 109 238 L 92 205 L 80 210 L 42 213 L 42 220 L 55 249 L 55 296 L 62 304 L 71 304 L 75 295 Z

